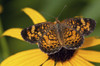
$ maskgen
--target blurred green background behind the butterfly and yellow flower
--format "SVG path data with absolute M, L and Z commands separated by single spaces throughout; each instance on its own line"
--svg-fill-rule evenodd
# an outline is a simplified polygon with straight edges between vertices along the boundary
M 100 37 L 100 0 L 0 0 L 3 13 L 0 14 L 0 35 L 9 28 L 25 28 L 33 25 L 32 20 L 21 11 L 22 8 L 30 7 L 39 11 L 47 21 L 54 21 L 59 15 L 59 20 L 74 16 L 84 16 L 96 20 L 96 29 L 89 36 Z M 17 52 L 37 48 L 37 45 L 11 38 L 0 38 L 0 62 Z M 88 49 L 100 51 L 100 46 Z M 94 63 L 100 66 L 99 63 Z

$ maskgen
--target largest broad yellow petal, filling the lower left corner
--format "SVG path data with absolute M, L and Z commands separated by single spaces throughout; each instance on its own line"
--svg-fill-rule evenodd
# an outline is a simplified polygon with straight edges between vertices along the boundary
M 47 59 L 47 54 L 40 49 L 32 49 L 8 57 L 1 63 L 1 66 L 39 66 Z

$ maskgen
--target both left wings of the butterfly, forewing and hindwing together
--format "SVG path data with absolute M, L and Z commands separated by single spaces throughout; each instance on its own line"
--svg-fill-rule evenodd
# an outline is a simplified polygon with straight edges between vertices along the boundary
M 61 49 L 52 22 L 39 23 L 25 28 L 21 35 L 30 43 L 38 43 L 39 48 L 45 53 L 52 54 Z

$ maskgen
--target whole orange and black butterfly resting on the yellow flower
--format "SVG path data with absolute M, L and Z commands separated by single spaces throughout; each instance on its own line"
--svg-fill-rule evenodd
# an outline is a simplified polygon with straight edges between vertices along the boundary
M 95 25 L 90 18 L 69 18 L 61 22 L 56 19 L 55 22 L 43 22 L 25 28 L 21 35 L 28 42 L 38 43 L 43 52 L 53 54 L 61 48 L 79 48 L 84 36 L 93 32 Z

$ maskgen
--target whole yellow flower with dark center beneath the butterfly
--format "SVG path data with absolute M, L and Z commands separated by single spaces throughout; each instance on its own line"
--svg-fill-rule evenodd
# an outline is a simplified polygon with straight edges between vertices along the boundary
M 37 11 L 31 8 L 24 8 L 23 11 L 32 19 L 34 24 L 40 22 L 46 22 L 45 18 L 40 13 L 38 13 Z M 23 40 L 20 34 L 21 31 L 22 31 L 21 28 L 12 28 L 5 31 L 2 36 L 11 36 Z M 83 48 L 92 47 L 99 44 L 100 44 L 99 38 L 96 37 L 85 38 L 85 42 L 81 48 L 79 48 L 75 52 L 74 51 L 69 52 L 69 55 L 67 55 L 68 56 L 67 60 L 61 55 L 58 55 L 58 57 L 57 54 L 47 55 L 44 52 L 42 52 L 40 49 L 31 49 L 27 51 L 22 51 L 5 59 L 1 63 L 1 66 L 40 66 L 40 65 L 42 66 L 54 66 L 54 65 L 55 66 L 94 66 L 89 61 L 100 63 L 100 52 L 83 50 Z M 61 62 L 61 61 L 54 60 L 55 58 L 59 59 L 60 57 L 66 61 Z

